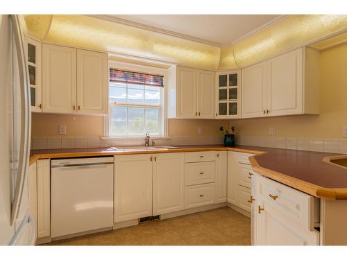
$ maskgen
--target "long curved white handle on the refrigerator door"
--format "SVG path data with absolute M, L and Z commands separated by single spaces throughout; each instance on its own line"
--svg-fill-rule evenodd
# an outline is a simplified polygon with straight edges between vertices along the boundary
M 30 153 L 30 136 L 31 136 L 31 114 L 29 103 L 29 75 L 28 66 L 26 64 L 26 46 L 25 42 L 25 21 L 24 17 L 19 15 L 10 15 L 12 21 L 12 31 L 15 38 L 16 52 L 19 67 L 19 84 L 20 84 L 20 100 L 21 100 L 21 135 L 17 180 L 15 183 L 15 193 L 11 208 L 11 225 L 17 218 L 20 203 L 22 200 L 24 181 L 28 170 L 28 157 Z

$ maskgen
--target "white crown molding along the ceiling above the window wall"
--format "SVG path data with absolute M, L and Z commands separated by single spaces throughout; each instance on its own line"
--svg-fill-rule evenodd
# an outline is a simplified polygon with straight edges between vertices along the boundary
M 126 20 L 126 19 L 121 19 L 121 18 L 118 18 L 118 17 L 114 17 L 112 15 L 87 15 L 87 16 L 98 18 L 98 19 L 103 19 L 103 20 L 108 20 L 108 21 L 113 21 L 113 22 L 116 22 L 118 24 L 124 24 L 124 25 L 127 25 L 127 26 L 133 26 L 133 27 L 144 29 L 144 30 L 153 31 L 155 33 L 163 33 L 163 34 L 166 34 L 166 35 L 179 37 L 179 38 L 182 38 L 182 39 L 185 39 L 185 40 L 191 40 L 193 42 L 200 42 L 202 44 L 208 44 L 208 45 L 216 46 L 216 47 L 219 47 L 219 48 L 221 47 L 221 44 L 219 44 L 218 42 L 212 42 L 212 41 L 209 41 L 209 40 L 203 40 L 201 38 L 185 35 L 183 33 L 175 33 L 173 31 L 168 31 L 168 30 L 164 30 L 164 29 L 161 29 L 161 28 L 148 26 L 148 25 L 145 25 L 145 24 L 139 24 L 139 23 L 137 23 L 135 21 L 129 21 L 129 20 Z

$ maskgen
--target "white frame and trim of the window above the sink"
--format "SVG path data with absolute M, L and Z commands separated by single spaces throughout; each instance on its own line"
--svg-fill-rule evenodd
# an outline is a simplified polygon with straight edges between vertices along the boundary
M 160 125 L 160 133 L 158 135 L 151 135 L 152 137 L 167 137 L 167 69 L 160 69 L 160 68 L 155 68 L 155 67 L 149 67 L 149 66 L 144 66 L 144 65 L 138 65 L 138 64 L 131 64 L 131 63 L 126 63 L 126 62 L 118 62 L 115 60 L 109 60 L 108 61 L 108 71 L 110 71 L 110 68 L 112 69 L 121 69 L 125 71 L 135 71 L 139 73 L 147 73 L 147 74 L 154 74 L 154 75 L 160 75 L 163 76 L 164 80 L 164 87 L 162 87 L 162 104 L 159 109 L 159 125 Z M 110 87 L 109 85 L 110 79 L 108 80 L 108 88 Z M 109 90 L 109 89 L 108 89 Z M 110 125 L 111 125 L 111 105 L 110 105 L 110 92 L 108 91 L 108 115 L 103 117 L 103 136 L 108 137 L 108 138 L 134 138 L 134 137 L 143 137 L 142 135 L 110 135 Z M 121 105 L 121 103 L 119 103 Z M 129 106 L 129 107 L 158 107 L 155 105 L 129 105 L 129 104 L 124 104 L 124 106 Z

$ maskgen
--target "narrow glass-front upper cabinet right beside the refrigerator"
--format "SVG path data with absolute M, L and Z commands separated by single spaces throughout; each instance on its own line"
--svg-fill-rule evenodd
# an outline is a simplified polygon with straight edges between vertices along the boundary
M 28 71 L 31 94 L 31 111 L 41 112 L 41 43 L 28 37 Z

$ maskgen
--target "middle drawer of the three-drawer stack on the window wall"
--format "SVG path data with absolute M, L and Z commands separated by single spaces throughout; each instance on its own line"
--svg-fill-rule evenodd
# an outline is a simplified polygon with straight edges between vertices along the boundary
M 185 164 L 185 185 L 215 181 L 216 162 L 191 162 Z

